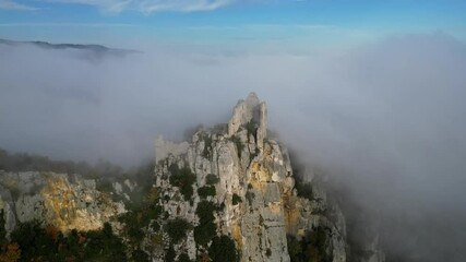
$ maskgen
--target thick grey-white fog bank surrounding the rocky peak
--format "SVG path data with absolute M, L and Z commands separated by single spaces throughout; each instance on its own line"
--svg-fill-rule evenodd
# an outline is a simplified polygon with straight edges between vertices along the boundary
M 439 33 L 312 56 L 87 55 L 0 46 L 0 147 L 133 165 L 153 157 L 157 134 L 226 122 L 255 91 L 282 140 L 380 221 L 393 254 L 466 257 L 464 43 Z

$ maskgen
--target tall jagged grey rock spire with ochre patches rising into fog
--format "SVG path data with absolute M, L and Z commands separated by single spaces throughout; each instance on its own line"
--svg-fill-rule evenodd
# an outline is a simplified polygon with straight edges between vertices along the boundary
M 313 186 L 312 200 L 297 195 L 287 150 L 267 136 L 266 116 L 265 103 L 251 93 L 238 102 L 226 127 L 199 130 L 189 146 L 170 144 L 176 148 L 171 153 L 165 146 L 168 143 L 157 141 L 156 152 L 164 157 L 156 156 L 155 186 L 166 195 L 160 203 L 167 219 L 182 217 L 196 226 L 195 210 L 202 201 L 198 189 L 207 184 L 208 175 L 215 175 L 215 195 L 206 200 L 220 206 L 214 212 L 217 234 L 235 240 L 241 261 L 290 261 L 287 235 L 300 239 L 319 226 L 326 230 L 325 252 L 332 261 L 346 261 L 342 212 L 319 186 Z M 191 201 L 184 201 L 180 188 L 169 182 L 174 164 L 195 175 Z M 192 233 L 175 250 L 191 259 L 205 251 Z

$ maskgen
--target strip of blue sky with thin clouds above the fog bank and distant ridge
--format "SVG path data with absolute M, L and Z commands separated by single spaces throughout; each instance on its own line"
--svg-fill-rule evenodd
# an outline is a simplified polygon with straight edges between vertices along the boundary
M 455 0 L 0 0 L 0 37 L 306 51 L 437 31 L 465 40 L 465 13 Z

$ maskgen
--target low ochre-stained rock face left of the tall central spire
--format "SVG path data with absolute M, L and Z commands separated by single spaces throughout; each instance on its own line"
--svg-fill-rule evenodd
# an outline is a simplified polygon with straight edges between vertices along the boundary
M 122 203 L 96 189 L 95 180 L 79 175 L 1 171 L 0 184 L 8 231 L 14 229 L 16 221 L 38 221 L 63 233 L 96 230 L 124 212 Z

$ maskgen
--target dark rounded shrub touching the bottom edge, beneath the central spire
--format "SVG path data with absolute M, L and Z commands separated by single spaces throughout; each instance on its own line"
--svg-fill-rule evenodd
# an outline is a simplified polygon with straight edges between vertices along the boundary
M 212 245 L 208 248 L 208 255 L 212 262 L 237 262 L 239 254 L 235 246 L 235 241 L 227 237 L 214 237 Z

